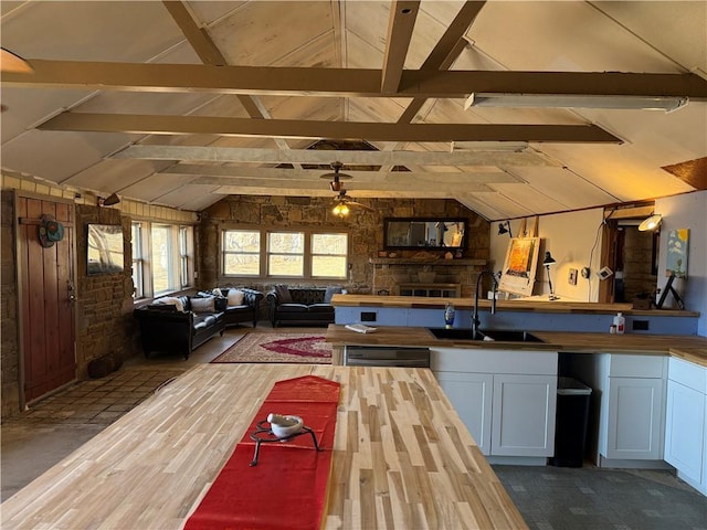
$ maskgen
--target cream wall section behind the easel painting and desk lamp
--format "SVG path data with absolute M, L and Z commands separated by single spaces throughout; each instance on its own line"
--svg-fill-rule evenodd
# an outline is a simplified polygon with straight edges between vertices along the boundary
M 540 257 L 542 262 L 545 251 L 550 251 L 557 263 L 550 267 L 550 279 L 555 294 L 564 300 L 597 301 L 599 299 L 599 257 L 601 254 L 601 237 L 597 240 L 597 232 L 603 220 L 603 209 L 583 210 L 581 212 L 558 213 L 542 215 L 538 222 L 540 237 Z M 532 225 L 532 218 L 527 220 L 527 227 Z M 518 236 L 520 220 L 510 221 L 514 236 Z M 502 269 L 509 242 L 508 234 L 498 235 L 498 223 L 492 223 L 490 229 L 490 261 L 494 271 Z M 594 246 L 592 261 L 590 254 Z M 590 279 L 579 274 L 582 267 L 591 268 Z M 570 268 L 577 268 L 577 285 L 570 285 L 568 276 Z M 549 294 L 547 271 L 538 265 L 535 295 Z

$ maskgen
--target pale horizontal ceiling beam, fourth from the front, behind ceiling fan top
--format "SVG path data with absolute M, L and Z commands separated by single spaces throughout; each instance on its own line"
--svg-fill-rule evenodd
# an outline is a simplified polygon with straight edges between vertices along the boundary
M 329 190 L 329 181 L 331 179 L 323 179 L 320 169 L 281 169 L 281 168 L 252 168 L 243 166 L 212 166 L 212 165 L 191 165 L 179 163 L 167 168 L 161 173 L 169 174 L 192 174 L 198 177 L 215 177 L 218 182 L 229 183 L 228 180 L 235 179 L 257 179 L 276 180 L 289 182 L 299 182 L 303 184 L 316 184 L 323 189 Z M 380 184 L 383 182 L 395 184 L 418 184 L 430 183 L 440 184 L 492 184 L 492 183 L 515 183 L 523 182 L 518 177 L 509 174 L 505 171 L 346 171 L 346 174 L 354 177 L 354 181 L 347 180 L 344 186 L 346 189 L 356 188 L 360 184 Z M 376 189 L 367 187 L 367 189 Z

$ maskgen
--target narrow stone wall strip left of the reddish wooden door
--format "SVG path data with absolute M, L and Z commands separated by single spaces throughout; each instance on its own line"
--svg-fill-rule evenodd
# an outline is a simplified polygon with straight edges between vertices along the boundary
M 2 367 L 2 417 L 20 410 L 20 353 L 18 338 L 18 284 L 14 205 L 12 192 L 0 194 L 0 365 Z

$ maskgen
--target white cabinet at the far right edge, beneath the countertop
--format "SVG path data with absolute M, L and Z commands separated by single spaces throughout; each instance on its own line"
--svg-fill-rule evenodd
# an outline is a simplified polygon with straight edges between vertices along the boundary
M 666 402 L 665 462 L 707 495 L 707 368 L 671 358 Z

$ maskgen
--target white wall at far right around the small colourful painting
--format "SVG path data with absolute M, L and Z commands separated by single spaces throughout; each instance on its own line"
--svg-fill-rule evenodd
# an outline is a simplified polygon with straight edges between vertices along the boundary
M 697 332 L 707 337 L 707 191 L 657 199 L 655 213 L 663 215 L 657 286 L 663 288 L 667 282 L 664 273 L 667 233 L 689 229 L 687 279 L 675 279 L 673 287 L 685 301 L 685 309 L 700 312 Z M 672 304 L 673 297 L 668 296 L 664 307 Z

